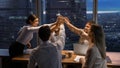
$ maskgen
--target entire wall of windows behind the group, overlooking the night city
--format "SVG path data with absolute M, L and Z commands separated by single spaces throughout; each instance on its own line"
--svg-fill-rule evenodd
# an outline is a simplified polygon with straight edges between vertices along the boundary
M 0 48 L 8 48 L 10 43 L 15 41 L 27 16 L 30 13 L 37 14 L 37 10 L 40 11 L 41 24 L 55 22 L 56 14 L 69 17 L 72 24 L 78 28 L 83 28 L 86 21 L 92 19 L 93 0 L 40 0 L 36 6 L 38 1 L 0 0 Z M 105 31 L 107 51 L 120 51 L 119 1 L 98 0 L 98 23 Z M 73 49 L 73 43 L 78 42 L 79 36 L 66 26 L 65 29 L 65 49 Z M 32 40 L 32 44 L 35 42 L 36 38 Z

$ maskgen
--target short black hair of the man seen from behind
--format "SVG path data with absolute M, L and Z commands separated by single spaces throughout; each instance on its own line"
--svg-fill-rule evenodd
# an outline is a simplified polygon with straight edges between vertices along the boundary
M 51 34 L 51 30 L 49 26 L 42 26 L 39 28 L 38 35 L 42 41 L 49 40 Z

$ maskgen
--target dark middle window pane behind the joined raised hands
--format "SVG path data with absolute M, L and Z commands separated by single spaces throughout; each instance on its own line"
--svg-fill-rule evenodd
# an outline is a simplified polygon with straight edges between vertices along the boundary
M 42 0 L 42 24 L 56 21 L 57 14 L 67 16 L 76 27 L 84 27 L 86 23 L 86 0 Z M 65 49 L 73 49 L 73 43 L 78 42 L 79 36 L 67 27 Z

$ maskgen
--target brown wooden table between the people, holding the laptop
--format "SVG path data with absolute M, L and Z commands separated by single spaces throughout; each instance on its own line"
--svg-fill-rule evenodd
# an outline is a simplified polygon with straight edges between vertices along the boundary
M 71 53 L 71 56 L 69 56 L 69 53 Z M 84 56 L 76 55 L 76 54 L 74 54 L 73 51 L 70 51 L 70 50 L 63 50 L 62 55 L 63 55 L 63 58 L 62 58 L 63 68 L 66 68 L 67 66 L 71 66 L 71 65 L 73 67 L 74 66 L 79 67 L 79 68 L 81 67 L 81 63 L 76 62 L 74 59 L 76 58 L 76 56 L 83 57 L 83 58 L 84 58 Z M 30 57 L 30 54 L 25 54 L 23 56 L 18 56 L 18 57 L 12 58 L 12 61 L 27 63 L 29 60 L 29 57 Z

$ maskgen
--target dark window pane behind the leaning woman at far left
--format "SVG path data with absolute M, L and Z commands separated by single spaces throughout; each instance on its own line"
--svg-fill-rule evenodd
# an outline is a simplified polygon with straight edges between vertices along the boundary
M 35 0 L 0 0 L 0 48 L 8 48 L 30 13 L 35 13 Z

